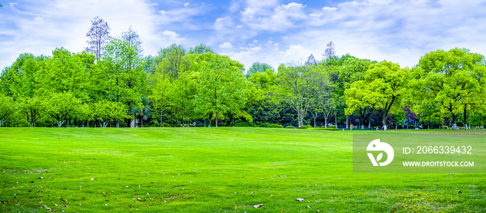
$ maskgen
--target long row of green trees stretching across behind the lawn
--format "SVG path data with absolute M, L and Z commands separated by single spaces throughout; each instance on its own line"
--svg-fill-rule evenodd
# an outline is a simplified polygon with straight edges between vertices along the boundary
M 486 121 L 485 57 L 454 48 L 412 68 L 351 55 L 255 62 L 248 71 L 201 44 L 143 56 L 128 28 L 110 36 L 98 17 L 81 53 L 24 53 L 0 75 L 0 127 L 189 127 L 255 122 L 364 129 L 418 124 L 469 129 Z

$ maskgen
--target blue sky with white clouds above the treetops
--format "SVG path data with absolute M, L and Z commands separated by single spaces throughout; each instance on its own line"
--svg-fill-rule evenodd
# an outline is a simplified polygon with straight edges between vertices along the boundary
M 486 1 L 3 1 L 0 67 L 20 53 L 51 55 L 56 47 L 84 49 L 91 20 L 111 34 L 130 26 L 144 55 L 172 43 L 204 43 L 249 68 L 253 62 L 303 62 L 322 58 L 333 41 L 337 55 L 414 66 L 433 50 L 469 48 L 486 54 Z

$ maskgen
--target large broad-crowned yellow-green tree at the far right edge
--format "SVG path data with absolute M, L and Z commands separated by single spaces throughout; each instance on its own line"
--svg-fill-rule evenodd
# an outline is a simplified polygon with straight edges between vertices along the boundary
M 437 102 L 449 113 L 453 129 L 458 129 L 458 116 L 479 108 L 485 99 L 486 69 L 484 57 L 467 49 L 437 50 L 421 57 L 412 70 L 412 97 Z

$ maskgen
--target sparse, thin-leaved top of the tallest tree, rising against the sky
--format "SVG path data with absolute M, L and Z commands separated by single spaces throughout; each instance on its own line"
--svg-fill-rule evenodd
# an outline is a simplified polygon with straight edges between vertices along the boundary
M 89 45 L 86 50 L 93 53 L 98 61 L 103 57 L 103 50 L 111 39 L 110 26 L 103 19 L 94 17 L 93 21 L 91 21 L 91 28 L 86 33 L 86 37 L 88 37 L 86 42 Z

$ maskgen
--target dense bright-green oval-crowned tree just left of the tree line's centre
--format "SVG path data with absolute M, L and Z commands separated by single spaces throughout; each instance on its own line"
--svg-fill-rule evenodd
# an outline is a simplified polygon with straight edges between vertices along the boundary
M 196 109 L 218 119 L 227 111 L 242 107 L 245 78 L 243 65 L 227 56 L 204 53 L 198 55 L 201 70 L 194 97 Z

